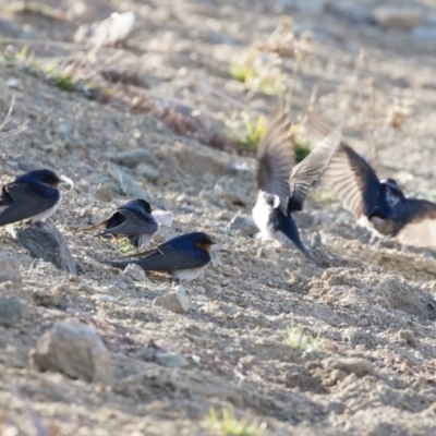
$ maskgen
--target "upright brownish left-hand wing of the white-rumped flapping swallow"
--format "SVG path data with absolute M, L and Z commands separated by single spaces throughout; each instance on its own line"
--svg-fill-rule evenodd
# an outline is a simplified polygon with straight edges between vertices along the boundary
M 257 149 L 257 186 L 278 195 L 283 211 L 289 197 L 288 178 L 295 164 L 290 129 L 288 113 L 277 111 Z

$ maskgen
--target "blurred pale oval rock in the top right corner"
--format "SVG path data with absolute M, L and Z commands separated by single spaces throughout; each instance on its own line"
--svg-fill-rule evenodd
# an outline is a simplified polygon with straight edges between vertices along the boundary
M 373 11 L 375 21 L 390 28 L 412 28 L 420 24 L 424 14 L 419 8 L 399 8 L 395 5 L 378 7 Z

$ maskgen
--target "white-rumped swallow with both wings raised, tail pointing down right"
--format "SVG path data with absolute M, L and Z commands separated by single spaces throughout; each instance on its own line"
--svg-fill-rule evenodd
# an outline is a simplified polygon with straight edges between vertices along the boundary
M 303 208 L 307 190 L 335 154 L 340 131 L 324 138 L 313 152 L 295 166 L 290 123 L 287 113 L 276 113 L 257 152 L 258 194 L 253 218 L 266 240 L 293 243 L 307 258 L 315 262 L 304 247 L 292 213 Z

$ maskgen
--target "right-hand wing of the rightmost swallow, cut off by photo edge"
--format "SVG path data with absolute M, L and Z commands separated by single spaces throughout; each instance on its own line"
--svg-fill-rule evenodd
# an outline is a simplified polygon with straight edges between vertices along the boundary
M 404 207 L 412 213 L 398 232 L 397 240 L 404 245 L 436 249 L 436 204 L 408 198 Z

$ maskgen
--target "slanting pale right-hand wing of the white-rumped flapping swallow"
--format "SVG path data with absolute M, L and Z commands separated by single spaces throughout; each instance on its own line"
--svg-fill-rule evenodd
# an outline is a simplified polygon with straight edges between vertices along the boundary
M 325 136 L 311 154 L 295 166 L 289 175 L 288 214 L 301 210 L 307 190 L 317 181 L 337 152 L 341 140 L 340 129 Z

